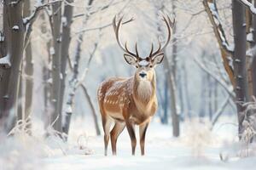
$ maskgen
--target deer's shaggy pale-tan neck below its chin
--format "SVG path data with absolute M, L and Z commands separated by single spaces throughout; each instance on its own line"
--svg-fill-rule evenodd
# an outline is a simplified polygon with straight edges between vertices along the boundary
M 134 77 L 133 81 L 133 99 L 137 106 L 148 107 L 152 104 L 152 100 L 155 98 L 155 75 L 151 81 L 138 80 Z

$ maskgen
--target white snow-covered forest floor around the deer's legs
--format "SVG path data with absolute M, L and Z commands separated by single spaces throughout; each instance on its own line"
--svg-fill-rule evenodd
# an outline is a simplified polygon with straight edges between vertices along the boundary
M 236 118 L 225 117 L 212 132 L 205 122 L 184 122 L 182 136 L 175 139 L 170 125 L 154 120 L 146 136 L 146 156 L 140 156 L 139 145 L 136 156 L 131 156 L 126 130 L 118 140 L 118 156 L 111 156 L 110 145 L 109 156 L 103 156 L 102 136 L 96 137 L 93 128 L 89 130 L 79 118 L 73 122 L 68 144 L 55 137 L 44 139 L 41 133 L 33 137 L 17 133 L 11 139 L 1 136 L 0 169 L 254 169 L 256 157 L 242 157 L 234 122 Z M 41 132 L 39 125 L 33 127 L 34 132 Z

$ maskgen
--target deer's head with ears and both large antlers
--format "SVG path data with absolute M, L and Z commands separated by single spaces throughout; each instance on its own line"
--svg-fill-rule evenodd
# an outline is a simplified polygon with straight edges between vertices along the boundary
M 163 46 L 161 46 L 160 40 L 159 40 L 159 48 L 157 48 L 155 51 L 154 51 L 154 44 L 152 43 L 148 57 L 143 59 L 138 54 L 137 43 L 135 45 L 136 53 L 131 52 L 127 48 L 127 42 L 125 42 L 125 46 L 122 44 L 119 37 L 119 28 L 122 24 L 124 24 L 122 23 L 122 19 L 123 17 L 120 18 L 118 22 L 116 22 L 116 16 L 113 18 L 113 30 L 115 32 L 115 37 L 117 39 L 119 47 L 125 52 L 124 54 L 125 61 L 129 65 L 134 65 L 137 68 L 136 75 L 135 75 L 137 77 L 137 80 L 151 81 L 154 77 L 155 65 L 159 65 L 164 59 L 164 49 L 166 48 L 167 44 L 171 40 L 171 27 L 174 26 L 175 20 L 172 22 L 169 16 L 167 15 L 163 16 L 163 20 L 165 21 L 167 30 L 168 30 L 168 36 L 167 36 L 166 42 Z

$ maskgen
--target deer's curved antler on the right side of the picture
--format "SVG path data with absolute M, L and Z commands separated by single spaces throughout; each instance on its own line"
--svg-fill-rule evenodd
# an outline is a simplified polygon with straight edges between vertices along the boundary
M 162 20 L 165 21 L 166 26 L 167 26 L 167 30 L 168 30 L 168 37 L 167 37 L 166 43 L 161 48 L 160 39 L 158 39 L 158 41 L 159 41 L 159 48 L 155 52 L 153 52 L 154 51 L 154 45 L 152 43 L 151 51 L 150 51 L 150 54 L 148 55 L 149 58 L 152 58 L 152 57 L 154 57 L 154 55 L 163 52 L 163 50 L 166 48 L 166 46 L 168 45 L 168 43 L 171 40 L 171 28 L 175 24 L 175 19 L 173 19 L 173 21 L 172 21 L 168 15 L 166 15 L 166 16 L 163 15 L 163 19 Z

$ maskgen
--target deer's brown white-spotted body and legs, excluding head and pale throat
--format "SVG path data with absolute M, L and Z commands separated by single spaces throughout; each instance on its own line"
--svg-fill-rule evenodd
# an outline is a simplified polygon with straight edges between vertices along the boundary
M 122 123 L 125 123 L 131 136 L 132 154 L 135 153 L 136 137 L 134 125 L 139 125 L 143 129 L 141 135 L 141 153 L 144 155 L 145 133 L 150 121 L 157 110 L 157 99 L 155 94 L 155 75 L 154 70 L 148 71 L 148 80 L 151 85 L 151 94 L 144 99 L 138 94 L 140 79 L 137 70 L 134 77 L 121 78 L 113 77 L 102 82 L 98 89 L 98 103 L 102 114 L 102 124 L 104 129 L 105 155 L 108 150 L 108 139 L 110 122 L 115 122 L 111 131 L 111 144 L 113 155 L 116 154 L 116 140 L 119 133 L 123 131 Z M 147 124 L 146 127 L 145 124 Z M 119 128 L 119 129 L 118 129 Z

